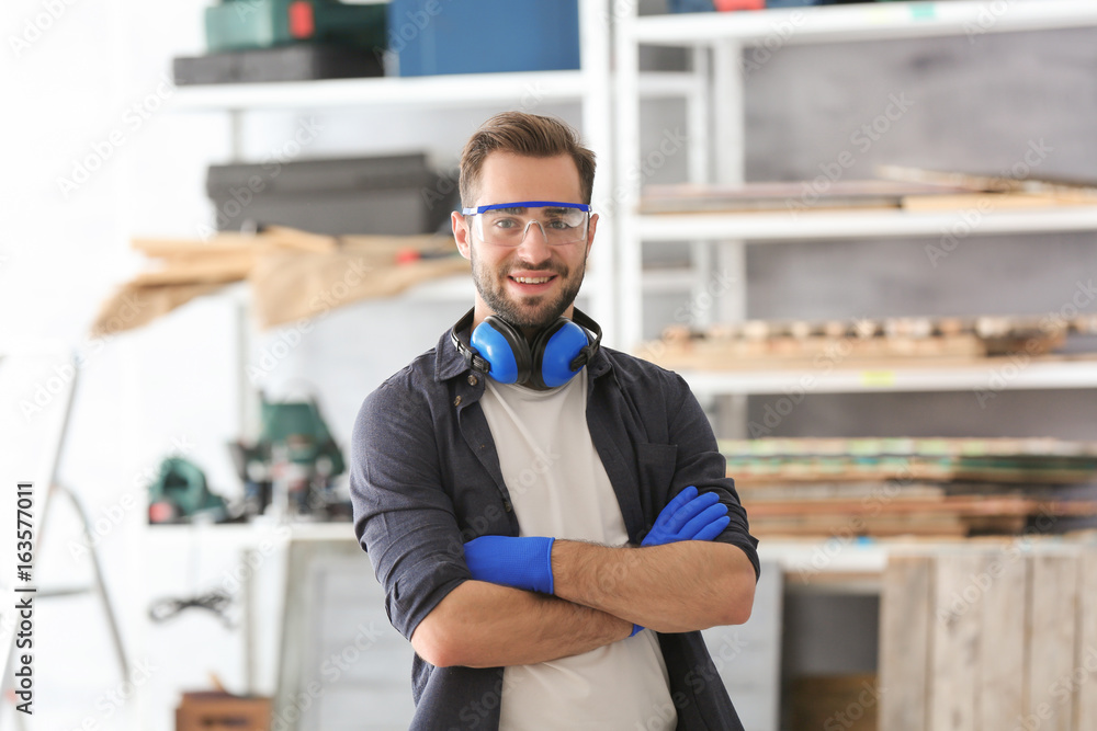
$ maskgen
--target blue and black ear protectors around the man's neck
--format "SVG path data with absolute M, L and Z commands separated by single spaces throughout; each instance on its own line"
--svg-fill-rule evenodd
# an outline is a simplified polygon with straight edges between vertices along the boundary
M 484 318 L 470 338 L 468 310 L 450 330 L 450 338 L 465 362 L 500 384 L 555 388 L 572 379 L 598 352 L 602 329 L 576 308 L 574 319 L 557 318 L 530 344 L 514 325 L 495 315 Z M 587 331 L 593 333 L 591 341 Z

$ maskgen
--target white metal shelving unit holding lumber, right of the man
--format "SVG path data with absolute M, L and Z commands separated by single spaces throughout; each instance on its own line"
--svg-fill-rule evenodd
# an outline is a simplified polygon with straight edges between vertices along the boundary
M 619 5 L 620 7 L 620 5 Z M 747 283 L 747 245 L 782 241 L 828 241 L 940 237 L 960 228 L 966 236 L 1031 235 L 1052 231 L 1097 231 L 1097 207 L 1041 210 L 980 210 L 915 213 L 902 210 L 813 210 L 793 216 L 781 212 L 750 214 L 641 215 L 641 181 L 630 176 L 641 156 L 640 47 L 670 46 L 692 54 L 701 93 L 686 95 L 689 127 L 689 183 L 735 185 L 744 182 L 745 60 L 774 49 L 802 44 L 981 35 L 1022 31 L 1097 26 L 1097 3 L 1085 0 L 1013 0 L 1009 3 L 972 0 L 949 2 L 887 2 L 765 10 L 737 13 L 682 13 L 637 16 L 635 2 L 615 25 L 617 180 L 621 183 L 618 215 L 618 267 L 621 341 L 637 349 L 644 328 L 644 293 L 654 275 L 660 290 L 676 284 L 692 301 L 714 301 L 715 312 L 692 324 L 746 319 L 744 287 L 713 298 L 710 272 Z M 719 123 L 717 123 L 719 121 Z M 668 276 L 645 271 L 645 242 L 682 242 L 691 266 Z M 746 286 L 749 286 L 748 284 Z M 709 298 L 706 300 L 702 297 Z M 711 312 L 713 308 L 705 308 Z M 646 349 L 654 353 L 658 344 Z M 645 350 L 646 350 L 645 349 Z M 1003 389 L 1097 388 L 1097 357 L 1041 356 L 992 358 L 961 365 L 920 365 L 914 361 L 886 365 L 836 363 L 830 368 L 681 370 L 698 396 L 720 403 L 724 431 L 746 436 L 746 397 L 749 395 L 869 393 Z M 959 395 L 958 395 L 959 396 Z M 725 434 L 731 436 L 732 434 Z M 916 541 L 916 545 L 917 541 Z M 925 542 L 918 545 L 923 550 Z M 760 556 L 784 574 L 785 592 L 874 595 L 889 557 L 905 549 L 902 541 L 858 540 L 833 535 L 815 540 L 764 540 Z M 748 625 L 743 631 L 758 632 Z M 757 638 L 751 637 L 753 640 Z M 755 641 L 765 646 L 765 640 Z M 768 647 L 780 653 L 780 646 Z M 780 655 L 779 655 L 780 656 Z M 768 666 L 767 666 L 768 667 Z M 749 684 L 736 688 L 738 703 L 755 713 L 750 728 L 778 728 L 780 671 L 754 670 Z M 743 712 L 744 709 L 740 709 Z

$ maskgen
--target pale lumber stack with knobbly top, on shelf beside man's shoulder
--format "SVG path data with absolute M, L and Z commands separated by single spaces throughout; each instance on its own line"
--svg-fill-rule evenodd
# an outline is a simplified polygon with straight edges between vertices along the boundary
M 961 364 L 1045 355 L 1070 335 L 1097 334 L 1097 315 L 1060 317 L 905 317 L 856 320 L 746 320 L 704 332 L 668 328 L 645 353 L 680 370 Z

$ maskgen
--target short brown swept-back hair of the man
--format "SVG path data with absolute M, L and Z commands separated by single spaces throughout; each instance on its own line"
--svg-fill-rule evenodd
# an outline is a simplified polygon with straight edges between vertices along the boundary
M 595 153 L 583 146 L 579 134 L 555 117 L 502 112 L 479 126 L 461 152 L 461 204 L 476 204 L 476 185 L 488 153 L 501 150 L 531 158 L 570 155 L 579 170 L 583 203 L 590 203 L 595 187 Z

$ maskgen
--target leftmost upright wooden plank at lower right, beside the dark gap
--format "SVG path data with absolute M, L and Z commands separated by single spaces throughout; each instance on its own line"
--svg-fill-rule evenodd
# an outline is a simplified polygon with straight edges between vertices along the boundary
M 880 729 L 928 731 L 934 560 L 892 556 L 880 598 Z

